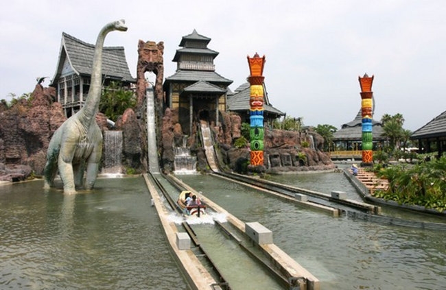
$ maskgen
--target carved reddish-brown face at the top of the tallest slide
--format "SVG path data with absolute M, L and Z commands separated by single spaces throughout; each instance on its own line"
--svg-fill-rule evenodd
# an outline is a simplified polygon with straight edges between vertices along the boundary
M 144 71 L 154 71 L 158 64 L 163 64 L 164 43 L 160 41 L 156 44 L 154 41 L 146 43 L 139 40 L 138 54 L 139 66 L 144 68 Z

